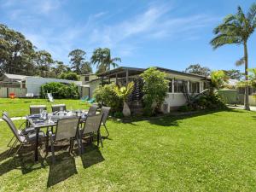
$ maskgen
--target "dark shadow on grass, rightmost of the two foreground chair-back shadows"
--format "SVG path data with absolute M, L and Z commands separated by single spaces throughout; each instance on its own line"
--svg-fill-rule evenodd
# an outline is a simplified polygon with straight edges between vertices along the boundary
M 84 148 L 84 154 L 81 154 L 81 160 L 84 169 L 86 169 L 90 166 L 102 162 L 105 159 L 103 158 L 99 148 L 95 144 L 90 144 Z

